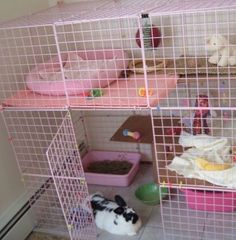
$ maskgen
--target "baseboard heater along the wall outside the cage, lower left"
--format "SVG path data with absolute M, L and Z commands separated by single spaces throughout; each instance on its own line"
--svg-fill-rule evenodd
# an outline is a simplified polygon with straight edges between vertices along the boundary
M 4 225 L 0 230 L 0 240 L 8 239 L 7 235 L 14 229 L 17 223 L 25 216 L 40 196 L 50 187 L 53 183 L 53 179 L 50 177 L 42 186 L 34 193 L 33 196 L 17 211 L 17 213 Z M 10 239 L 10 238 L 9 238 Z M 13 239 L 11 239 L 13 240 Z

